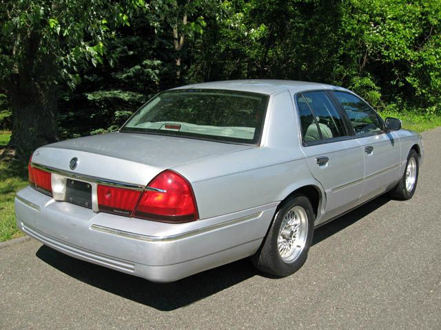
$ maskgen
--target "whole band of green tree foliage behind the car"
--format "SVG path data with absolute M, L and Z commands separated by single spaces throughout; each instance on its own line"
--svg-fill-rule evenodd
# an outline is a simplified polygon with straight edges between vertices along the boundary
M 0 91 L 23 69 L 53 80 L 62 138 L 114 131 L 163 89 L 236 78 L 331 83 L 380 111 L 441 115 L 439 0 L 11 0 L 0 17 Z

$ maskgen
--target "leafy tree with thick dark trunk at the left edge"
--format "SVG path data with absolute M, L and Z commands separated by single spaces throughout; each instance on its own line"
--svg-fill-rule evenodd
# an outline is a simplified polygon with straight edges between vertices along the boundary
M 128 17 L 121 2 L 106 0 L 1 0 L 0 17 L 0 89 L 12 107 L 10 146 L 27 157 L 57 141 L 61 88 L 79 83 L 77 72 L 88 61 L 101 61 L 106 37 Z

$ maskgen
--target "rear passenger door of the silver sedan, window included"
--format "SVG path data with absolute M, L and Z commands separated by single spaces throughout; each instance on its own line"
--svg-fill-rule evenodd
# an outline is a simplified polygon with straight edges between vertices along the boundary
M 359 203 L 364 174 L 364 155 L 338 108 L 325 91 L 296 94 L 302 132 L 302 151 L 312 175 L 326 194 L 325 215 L 319 223 Z

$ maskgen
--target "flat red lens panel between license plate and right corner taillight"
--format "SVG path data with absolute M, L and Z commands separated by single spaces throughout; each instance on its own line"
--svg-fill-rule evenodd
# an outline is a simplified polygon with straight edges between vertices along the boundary
M 100 211 L 130 216 L 138 202 L 141 191 L 98 185 L 98 208 Z

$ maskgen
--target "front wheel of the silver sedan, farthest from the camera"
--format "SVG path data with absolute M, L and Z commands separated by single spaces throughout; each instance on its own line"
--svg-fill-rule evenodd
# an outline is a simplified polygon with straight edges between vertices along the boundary
M 406 170 L 404 170 L 404 175 L 400 179 L 400 182 L 391 190 L 390 195 L 393 198 L 407 200 L 411 199 L 413 193 L 416 190 L 416 184 L 418 183 L 418 153 L 411 149 L 409 155 L 407 156 Z

